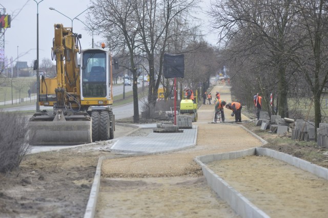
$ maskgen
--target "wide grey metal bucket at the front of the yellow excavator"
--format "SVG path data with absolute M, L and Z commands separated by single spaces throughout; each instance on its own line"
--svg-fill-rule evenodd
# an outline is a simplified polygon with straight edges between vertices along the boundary
M 49 121 L 51 118 L 53 120 Z M 65 119 L 62 112 L 57 112 L 55 117 L 34 115 L 29 122 L 29 144 L 77 145 L 91 143 L 91 120 L 83 119 L 82 116 Z

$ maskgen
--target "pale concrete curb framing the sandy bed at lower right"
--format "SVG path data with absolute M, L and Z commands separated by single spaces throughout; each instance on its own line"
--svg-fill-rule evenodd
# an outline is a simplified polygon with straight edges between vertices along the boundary
M 243 126 L 241 127 L 245 128 Z M 261 140 L 263 144 L 267 143 L 267 141 L 250 132 L 250 130 L 248 130 L 248 132 L 254 137 Z M 246 150 L 227 152 L 223 154 L 204 155 L 196 157 L 194 160 L 197 164 L 201 166 L 203 175 L 206 177 L 209 186 L 219 195 L 220 198 L 226 201 L 231 206 L 231 208 L 241 217 L 270 216 L 264 213 L 259 208 L 257 208 L 247 198 L 243 197 L 241 193 L 236 191 L 226 181 L 216 175 L 210 168 L 207 167 L 206 163 L 217 160 L 236 159 L 251 155 L 269 156 L 277 160 L 284 161 L 302 170 L 311 172 L 314 175 L 321 177 L 325 180 L 328 180 L 328 169 L 269 148 L 255 147 Z

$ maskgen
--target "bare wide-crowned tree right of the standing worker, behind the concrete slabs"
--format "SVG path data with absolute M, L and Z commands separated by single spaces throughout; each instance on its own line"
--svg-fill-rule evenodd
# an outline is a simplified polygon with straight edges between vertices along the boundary
M 298 10 L 293 7 L 295 0 L 283 1 L 216 1 L 210 14 L 215 28 L 219 30 L 219 40 L 227 45 L 241 33 L 248 39 L 243 41 L 243 49 L 262 45 L 268 50 L 272 69 L 278 77 L 278 112 L 288 117 L 288 82 L 286 69 L 290 61 L 286 56 L 292 53 L 299 41 L 295 40 L 293 26 Z M 243 52 L 243 51 L 240 51 Z

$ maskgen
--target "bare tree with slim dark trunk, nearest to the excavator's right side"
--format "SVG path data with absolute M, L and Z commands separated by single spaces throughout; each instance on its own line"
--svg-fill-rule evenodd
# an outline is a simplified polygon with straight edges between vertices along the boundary
M 139 121 L 139 105 L 135 50 L 137 48 L 136 35 L 139 27 L 135 20 L 133 1 L 95 0 L 92 3 L 96 7 L 93 20 L 107 37 L 111 49 L 117 49 L 122 56 L 129 58 L 130 64 L 124 67 L 131 71 L 133 75 L 133 121 L 136 123 Z

